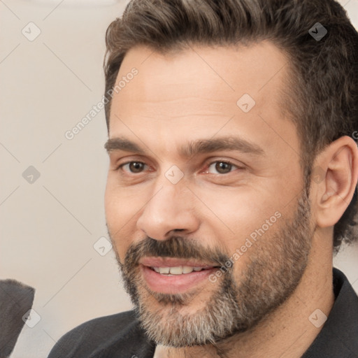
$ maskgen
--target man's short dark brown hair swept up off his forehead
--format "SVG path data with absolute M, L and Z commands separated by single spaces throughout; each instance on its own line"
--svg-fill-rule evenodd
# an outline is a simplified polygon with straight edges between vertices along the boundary
M 326 36 L 314 38 L 317 22 Z M 132 0 L 106 32 L 106 121 L 117 73 L 127 52 L 147 45 L 157 52 L 189 44 L 237 45 L 272 41 L 289 58 L 282 111 L 296 124 L 301 164 L 310 186 L 313 159 L 358 121 L 358 34 L 334 0 Z M 334 227 L 334 249 L 357 239 L 357 189 Z

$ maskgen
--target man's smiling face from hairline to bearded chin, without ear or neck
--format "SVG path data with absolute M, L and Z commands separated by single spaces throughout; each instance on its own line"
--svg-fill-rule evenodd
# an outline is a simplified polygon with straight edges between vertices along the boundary
M 106 220 L 157 343 L 245 331 L 303 275 L 313 231 L 299 138 L 280 108 L 286 62 L 270 43 L 171 55 L 140 47 L 124 58 Z

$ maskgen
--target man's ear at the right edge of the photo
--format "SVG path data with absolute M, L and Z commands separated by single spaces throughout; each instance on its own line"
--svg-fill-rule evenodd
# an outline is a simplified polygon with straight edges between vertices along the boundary
M 358 178 L 358 148 L 348 136 L 338 138 L 315 159 L 311 199 L 317 227 L 333 227 L 352 200 Z

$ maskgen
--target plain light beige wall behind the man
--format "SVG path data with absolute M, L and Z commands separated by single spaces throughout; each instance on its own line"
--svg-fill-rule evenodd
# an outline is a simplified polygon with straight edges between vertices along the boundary
M 64 136 L 101 100 L 104 34 L 128 1 L 94 2 L 0 1 L 0 279 L 35 287 L 41 316 L 12 358 L 46 357 L 69 329 L 131 308 L 113 252 L 93 248 L 107 235 L 104 111 Z M 342 3 L 357 26 L 358 1 Z M 41 30 L 34 41 L 22 34 L 29 22 Z M 22 177 L 29 166 L 41 175 L 32 184 Z M 357 257 L 356 245 L 335 264 L 358 292 Z

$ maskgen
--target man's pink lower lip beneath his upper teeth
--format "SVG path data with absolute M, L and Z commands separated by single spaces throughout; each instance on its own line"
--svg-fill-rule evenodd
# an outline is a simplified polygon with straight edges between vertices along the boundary
M 199 283 L 208 279 L 211 273 L 217 268 L 210 268 L 203 271 L 193 271 L 182 275 L 162 275 L 148 266 L 141 265 L 141 271 L 148 287 L 155 292 L 163 294 L 179 294 L 196 287 Z

